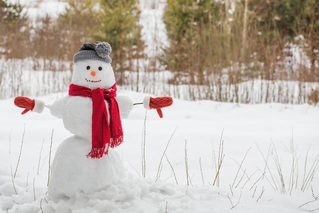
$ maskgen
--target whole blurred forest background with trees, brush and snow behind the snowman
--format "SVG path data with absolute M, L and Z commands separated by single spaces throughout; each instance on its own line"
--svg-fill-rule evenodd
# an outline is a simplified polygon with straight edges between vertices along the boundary
M 145 2 L 69 0 L 56 17 L 34 17 L 27 5 L 0 0 L 0 99 L 67 91 L 79 46 L 107 41 L 122 89 L 186 100 L 319 101 L 318 1 Z M 141 11 L 161 7 L 146 38 Z

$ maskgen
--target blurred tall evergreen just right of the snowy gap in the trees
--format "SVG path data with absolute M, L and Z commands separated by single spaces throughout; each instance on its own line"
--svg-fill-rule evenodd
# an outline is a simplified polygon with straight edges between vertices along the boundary
M 165 50 L 168 69 L 175 72 L 174 82 L 203 84 L 204 73 L 216 55 L 212 33 L 221 19 L 222 3 L 210 0 L 168 0 L 163 20 L 170 46 Z

